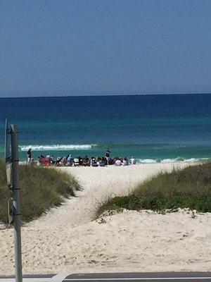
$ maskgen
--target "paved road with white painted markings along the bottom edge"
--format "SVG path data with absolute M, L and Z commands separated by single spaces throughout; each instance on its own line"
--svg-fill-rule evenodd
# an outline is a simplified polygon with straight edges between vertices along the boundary
M 23 282 L 211 282 L 211 272 L 159 272 L 115 274 L 47 274 L 23 276 Z M 0 276 L 0 282 L 15 282 L 14 276 Z

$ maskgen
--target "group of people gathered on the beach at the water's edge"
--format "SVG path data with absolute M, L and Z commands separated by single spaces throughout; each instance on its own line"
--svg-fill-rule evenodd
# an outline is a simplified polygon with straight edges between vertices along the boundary
M 27 162 L 35 163 L 34 159 L 32 159 L 32 149 L 29 149 L 27 152 Z M 136 159 L 132 157 L 130 160 L 127 157 L 124 158 L 111 158 L 110 150 L 107 149 L 105 153 L 105 157 L 72 157 L 72 154 L 68 154 L 66 157 L 57 157 L 54 159 L 53 156 L 47 155 L 41 156 L 37 159 L 38 166 L 128 166 L 129 164 L 136 164 Z

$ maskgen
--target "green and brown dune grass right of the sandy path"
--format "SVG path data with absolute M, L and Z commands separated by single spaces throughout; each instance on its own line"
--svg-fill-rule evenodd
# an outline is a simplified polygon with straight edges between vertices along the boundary
M 162 172 L 137 185 L 129 195 L 108 198 L 98 206 L 96 217 L 106 210 L 151 209 L 165 213 L 178 208 L 211 212 L 211 163 Z

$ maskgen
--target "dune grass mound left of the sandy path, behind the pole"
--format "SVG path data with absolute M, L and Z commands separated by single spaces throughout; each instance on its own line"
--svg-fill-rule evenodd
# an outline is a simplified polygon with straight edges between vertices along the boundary
M 54 168 L 20 166 L 20 197 L 22 221 L 28 222 L 58 207 L 64 198 L 75 195 L 79 183 L 68 173 Z M 0 161 L 0 221 L 8 221 L 7 201 L 11 197 L 6 183 L 5 164 Z

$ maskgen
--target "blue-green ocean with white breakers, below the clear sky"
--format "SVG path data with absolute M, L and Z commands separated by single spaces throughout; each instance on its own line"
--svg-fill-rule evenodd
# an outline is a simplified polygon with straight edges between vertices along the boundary
M 132 156 L 141 163 L 211 159 L 211 94 L 0 99 L 4 124 L 18 125 L 20 160 L 52 154 Z

